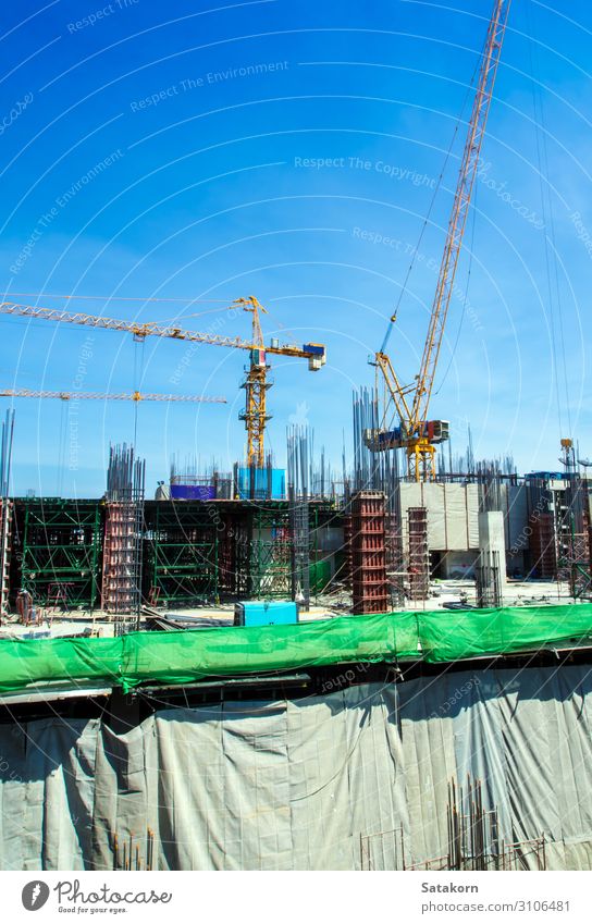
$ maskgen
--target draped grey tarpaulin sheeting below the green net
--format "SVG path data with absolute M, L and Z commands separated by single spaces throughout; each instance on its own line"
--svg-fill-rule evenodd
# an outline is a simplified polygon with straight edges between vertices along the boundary
M 275 703 L 0 726 L 0 865 L 171 870 L 422 865 L 448 783 L 482 780 L 505 843 L 592 867 L 592 668 L 448 673 Z M 132 840 L 130 840 L 132 839 Z M 535 854 L 519 848 L 534 868 Z M 136 852 L 137 851 L 137 852 Z

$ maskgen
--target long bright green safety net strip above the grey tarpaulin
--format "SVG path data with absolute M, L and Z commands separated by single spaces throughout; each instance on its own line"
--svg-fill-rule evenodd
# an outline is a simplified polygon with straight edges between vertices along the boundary
M 332 664 L 453 662 L 592 643 L 592 604 L 338 616 L 294 626 L 0 640 L 0 692 L 92 683 L 130 690 Z

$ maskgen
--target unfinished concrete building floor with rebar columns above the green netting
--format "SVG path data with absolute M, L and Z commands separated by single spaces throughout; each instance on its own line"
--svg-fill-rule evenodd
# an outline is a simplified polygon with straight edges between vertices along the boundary
M 590 484 L 576 470 L 518 477 L 492 463 L 418 483 L 368 468 L 360 443 L 358 468 L 335 481 L 310 458 L 308 434 L 288 447 L 287 473 L 173 472 L 157 500 L 145 497 L 144 463 L 121 447 L 101 498 L 5 497 L 4 612 L 23 596 L 135 616 L 295 596 L 384 613 L 425 605 L 455 580 L 480 605 L 529 579 L 590 597 Z

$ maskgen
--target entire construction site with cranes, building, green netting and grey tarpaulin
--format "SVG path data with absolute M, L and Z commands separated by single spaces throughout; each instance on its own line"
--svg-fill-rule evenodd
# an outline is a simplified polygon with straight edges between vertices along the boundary
M 566 433 L 519 472 L 431 416 L 510 12 L 485 5 L 417 374 L 397 304 L 343 447 L 286 420 L 269 448 L 271 364 L 322 393 L 332 347 L 268 337 L 256 296 L 246 338 L 0 304 L 247 357 L 242 458 L 147 483 L 115 441 L 100 496 L 12 491 L 23 403 L 226 399 L 0 392 L 1 868 L 592 868 L 592 463 Z

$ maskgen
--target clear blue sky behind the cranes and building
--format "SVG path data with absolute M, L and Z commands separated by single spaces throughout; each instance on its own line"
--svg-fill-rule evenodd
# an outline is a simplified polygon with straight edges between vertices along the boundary
M 399 297 L 491 5 L 3 9 L 4 299 L 246 336 L 249 318 L 221 309 L 255 294 L 270 311 L 267 336 L 324 342 L 329 355 L 318 373 L 274 359 L 268 444 L 282 464 L 286 423 L 308 422 L 337 460 L 344 431 L 350 449 L 351 389 L 373 381 L 367 359 Z M 455 452 L 470 423 L 478 456 L 513 453 L 522 471 L 557 468 L 562 435 L 592 454 L 592 9 L 564 10 L 514 0 L 431 405 L 451 420 Z M 462 135 L 390 343 L 405 380 L 419 365 Z M 54 294 L 101 298 L 65 306 Z M 173 453 L 225 469 L 242 456 L 242 350 L 0 324 L 5 387 L 227 397 L 138 409 L 149 491 Z M 16 493 L 96 495 L 109 442 L 134 436 L 132 405 L 15 407 Z

